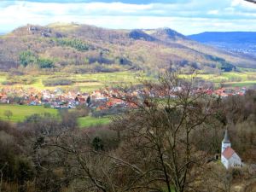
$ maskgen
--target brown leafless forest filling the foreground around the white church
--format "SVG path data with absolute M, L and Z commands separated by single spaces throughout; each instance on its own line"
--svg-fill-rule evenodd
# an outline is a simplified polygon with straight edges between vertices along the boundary
M 197 85 L 167 73 L 144 82 L 140 98 L 120 88 L 113 97 L 137 108 L 108 126 L 81 130 L 65 111 L 59 119 L 45 113 L 15 125 L 1 122 L 0 191 L 230 192 L 235 183 L 250 183 L 256 91 L 220 98 L 195 91 Z M 216 159 L 225 129 L 246 165 L 241 169 L 227 171 Z

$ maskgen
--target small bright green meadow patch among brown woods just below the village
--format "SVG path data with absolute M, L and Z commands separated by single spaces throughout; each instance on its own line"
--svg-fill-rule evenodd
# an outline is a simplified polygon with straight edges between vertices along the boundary
M 111 122 L 109 117 L 94 118 L 94 117 L 83 117 L 78 119 L 79 127 L 86 128 L 96 125 L 108 125 Z

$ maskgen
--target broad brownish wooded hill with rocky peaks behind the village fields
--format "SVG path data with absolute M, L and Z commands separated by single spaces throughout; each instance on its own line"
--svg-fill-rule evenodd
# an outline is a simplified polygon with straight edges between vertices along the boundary
M 228 53 L 195 42 L 170 28 L 110 30 L 55 23 L 27 25 L 0 37 L 0 69 L 37 66 L 70 73 L 172 67 L 198 69 L 253 67 L 247 55 Z

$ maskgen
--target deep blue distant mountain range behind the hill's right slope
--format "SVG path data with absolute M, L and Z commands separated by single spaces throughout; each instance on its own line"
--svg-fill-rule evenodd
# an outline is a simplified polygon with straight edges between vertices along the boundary
M 219 49 L 256 57 L 256 32 L 203 32 L 188 38 Z

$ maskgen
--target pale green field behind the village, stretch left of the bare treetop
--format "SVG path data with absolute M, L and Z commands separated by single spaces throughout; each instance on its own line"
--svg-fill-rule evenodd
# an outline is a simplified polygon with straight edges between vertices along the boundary
M 137 84 L 141 77 L 141 73 L 117 72 L 117 73 L 86 73 L 86 74 L 69 74 L 69 73 L 55 73 L 55 74 L 25 74 L 22 76 L 15 76 L 19 83 L 12 85 L 4 85 L 3 82 L 8 82 L 12 79 L 9 73 L 0 73 L 0 89 L 1 87 L 33 87 L 37 90 L 54 90 L 56 87 L 62 89 L 75 89 L 85 92 L 99 90 L 106 86 L 114 86 L 119 84 Z M 31 84 L 23 84 L 22 79 L 32 79 Z M 73 81 L 71 85 L 56 85 L 45 86 L 44 80 L 49 79 L 69 79 Z

